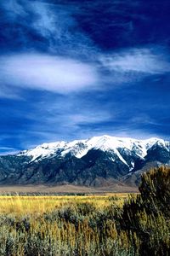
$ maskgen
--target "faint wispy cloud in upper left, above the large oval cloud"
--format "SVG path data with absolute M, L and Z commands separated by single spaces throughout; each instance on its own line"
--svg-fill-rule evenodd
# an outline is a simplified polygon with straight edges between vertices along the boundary
M 77 13 L 78 6 L 50 1 L 9 0 L 8 3 L 0 3 L 0 8 L 5 16 L 3 37 L 8 44 L 13 37 L 12 46 L 17 50 L 36 49 L 55 55 L 94 58 L 92 53 L 97 48 L 82 32 L 73 15 Z

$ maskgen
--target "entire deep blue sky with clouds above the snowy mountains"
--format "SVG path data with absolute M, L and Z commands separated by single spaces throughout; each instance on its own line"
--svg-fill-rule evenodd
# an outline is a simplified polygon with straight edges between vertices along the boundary
M 170 3 L 2 0 L 0 154 L 170 135 Z

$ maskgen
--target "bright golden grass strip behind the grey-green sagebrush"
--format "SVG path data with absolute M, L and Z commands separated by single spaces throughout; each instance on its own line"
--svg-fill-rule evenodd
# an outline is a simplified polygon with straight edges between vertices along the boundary
M 78 203 L 92 203 L 103 209 L 110 205 L 112 198 L 116 205 L 122 206 L 127 193 L 107 193 L 104 195 L 0 195 L 0 213 L 42 214 L 56 209 L 76 206 Z

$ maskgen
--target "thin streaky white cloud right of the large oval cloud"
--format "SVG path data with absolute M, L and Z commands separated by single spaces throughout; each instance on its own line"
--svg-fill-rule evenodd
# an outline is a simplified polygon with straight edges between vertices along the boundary
M 154 54 L 150 49 L 129 49 L 101 57 L 102 64 L 113 72 L 160 74 L 170 72 L 164 55 Z

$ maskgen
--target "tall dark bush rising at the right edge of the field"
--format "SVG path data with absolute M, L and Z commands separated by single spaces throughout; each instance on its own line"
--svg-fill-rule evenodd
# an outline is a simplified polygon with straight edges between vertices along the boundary
M 139 255 L 170 254 L 170 167 L 144 173 L 141 195 L 131 196 L 122 210 L 121 226 L 130 239 L 137 236 Z

